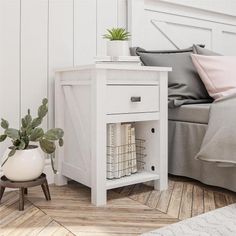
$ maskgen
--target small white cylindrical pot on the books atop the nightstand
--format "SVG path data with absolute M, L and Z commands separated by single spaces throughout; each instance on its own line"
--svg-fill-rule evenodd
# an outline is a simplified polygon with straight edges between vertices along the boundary
M 129 41 L 111 40 L 107 41 L 107 56 L 130 56 Z

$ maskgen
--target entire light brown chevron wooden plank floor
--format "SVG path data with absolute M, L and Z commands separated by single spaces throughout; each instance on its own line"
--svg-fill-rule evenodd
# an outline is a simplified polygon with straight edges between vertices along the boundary
M 47 202 L 39 188 L 29 191 L 25 211 L 18 193 L 8 192 L 0 205 L 0 235 L 140 235 L 179 220 L 236 202 L 236 194 L 183 178 L 170 178 L 163 192 L 138 184 L 108 193 L 108 204 L 90 204 L 90 189 L 75 182 L 50 186 Z

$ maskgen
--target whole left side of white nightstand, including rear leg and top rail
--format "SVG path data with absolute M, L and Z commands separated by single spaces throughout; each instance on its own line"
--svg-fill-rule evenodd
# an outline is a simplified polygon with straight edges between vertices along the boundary
M 91 76 L 86 70 L 56 73 L 55 125 L 65 131 L 64 147 L 56 155 L 55 180 L 59 185 L 66 184 L 66 179 L 61 177 L 64 175 L 91 186 L 90 82 Z

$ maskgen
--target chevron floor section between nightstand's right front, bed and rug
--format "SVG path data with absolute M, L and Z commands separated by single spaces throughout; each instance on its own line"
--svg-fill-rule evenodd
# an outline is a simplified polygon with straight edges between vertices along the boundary
M 166 191 L 156 191 L 142 184 L 115 191 L 179 220 L 236 203 L 234 192 L 173 176 L 169 178 L 169 188 Z

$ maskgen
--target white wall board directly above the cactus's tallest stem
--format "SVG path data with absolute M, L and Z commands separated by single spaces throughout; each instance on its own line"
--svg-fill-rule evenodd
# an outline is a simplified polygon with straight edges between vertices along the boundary
M 21 0 L 20 8 L 20 114 L 23 116 L 29 107 L 36 108 L 47 97 L 48 1 Z

